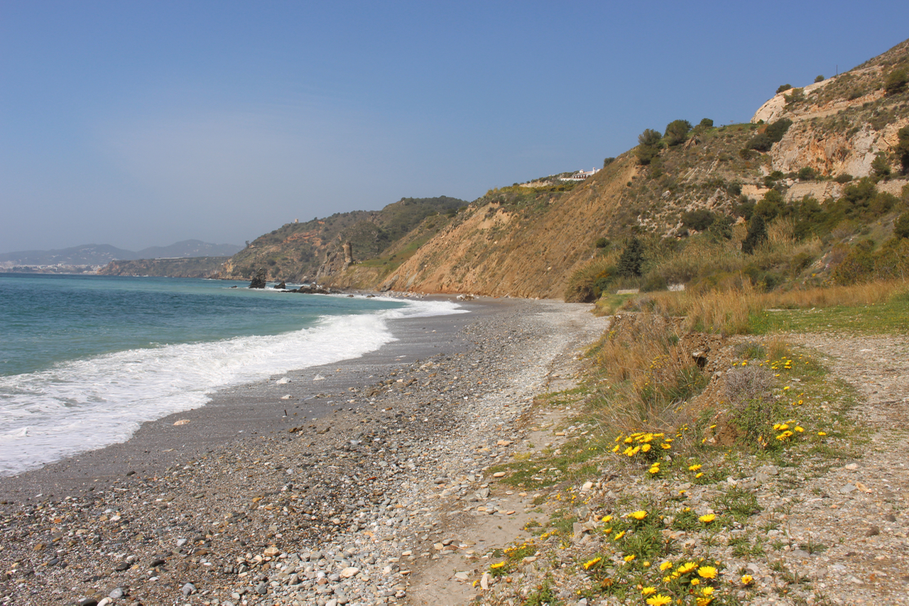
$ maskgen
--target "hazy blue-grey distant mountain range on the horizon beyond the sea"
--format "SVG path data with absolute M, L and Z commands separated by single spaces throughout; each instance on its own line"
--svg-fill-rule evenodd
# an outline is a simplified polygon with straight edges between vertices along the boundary
M 109 244 L 83 244 L 51 251 L 18 251 L 0 253 L 4 265 L 106 265 L 111 261 L 136 259 L 175 259 L 185 257 L 230 256 L 243 250 L 236 244 L 212 244 L 201 240 L 184 240 L 170 246 L 151 246 L 141 251 L 126 251 Z

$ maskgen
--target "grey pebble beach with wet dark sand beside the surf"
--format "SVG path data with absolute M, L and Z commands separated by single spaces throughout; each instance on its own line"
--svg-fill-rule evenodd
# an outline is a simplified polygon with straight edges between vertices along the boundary
M 584 305 L 465 306 L 0 480 L 0 603 L 407 601 L 465 547 L 439 491 L 488 494 L 515 421 L 605 326 Z

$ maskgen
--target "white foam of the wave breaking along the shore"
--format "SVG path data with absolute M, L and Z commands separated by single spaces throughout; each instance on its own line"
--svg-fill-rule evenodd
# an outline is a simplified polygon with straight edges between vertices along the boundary
M 389 319 L 463 311 L 407 303 L 293 333 L 134 349 L 0 377 L 0 475 L 125 442 L 142 422 L 202 406 L 224 387 L 375 351 L 395 340 Z

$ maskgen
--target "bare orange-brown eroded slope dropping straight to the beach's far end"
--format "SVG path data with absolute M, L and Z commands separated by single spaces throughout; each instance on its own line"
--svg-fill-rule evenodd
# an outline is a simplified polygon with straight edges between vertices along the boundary
M 568 194 L 541 196 L 532 208 L 474 202 L 379 287 L 561 298 L 568 277 L 615 221 L 637 170 L 629 154 Z

